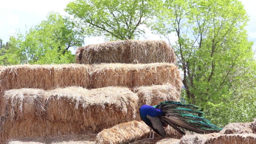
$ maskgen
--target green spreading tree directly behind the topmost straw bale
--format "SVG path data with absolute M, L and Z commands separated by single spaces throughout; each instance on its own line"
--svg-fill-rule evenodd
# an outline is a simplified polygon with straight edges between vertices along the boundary
M 76 0 L 67 5 L 87 35 L 131 39 L 144 32 L 161 7 L 161 0 Z

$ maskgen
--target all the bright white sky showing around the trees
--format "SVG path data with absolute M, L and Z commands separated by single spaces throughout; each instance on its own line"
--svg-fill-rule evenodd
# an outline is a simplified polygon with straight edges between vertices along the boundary
M 68 15 L 64 9 L 72 0 L 1 0 L 0 5 L 0 38 L 3 43 L 9 40 L 16 31 L 25 33 L 26 30 L 39 24 L 46 19 L 49 12 L 59 12 L 61 15 Z M 254 42 L 253 49 L 256 50 L 256 10 L 255 0 L 241 0 L 244 9 L 250 17 L 246 30 L 248 31 L 248 39 Z M 146 29 L 144 39 L 160 39 L 154 35 L 149 29 Z M 104 42 L 103 37 L 86 37 L 84 45 L 98 44 Z M 74 52 L 74 50 L 71 50 Z

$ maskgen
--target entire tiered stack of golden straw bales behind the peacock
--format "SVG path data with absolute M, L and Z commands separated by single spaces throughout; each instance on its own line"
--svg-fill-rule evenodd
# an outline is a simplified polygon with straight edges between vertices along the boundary
M 144 122 L 134 121 L 140 105 L 180 98 L 182 78 L 173 64 L 174 51 L 164 41 L 88 45 L 78 48 L 76 62 L 0 66 L 1 142 L 31 138 L 54 143 L 45 137 L 103 129 L 99 143 L 132 142 L 149 133 Z M 181 137 L 170 127 L 165 130 L 172 138 Z M 55 142 L 66 143 L 63 139 Z M 95 135 L 88 142 L 95 143 Z

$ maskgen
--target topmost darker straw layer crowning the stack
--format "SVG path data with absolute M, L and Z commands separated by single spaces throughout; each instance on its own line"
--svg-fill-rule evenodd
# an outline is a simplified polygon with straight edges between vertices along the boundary
M 76 51 L 76 63 L 175 63 L 172 47 L 163 40 L 111 41 L 91 44 Z

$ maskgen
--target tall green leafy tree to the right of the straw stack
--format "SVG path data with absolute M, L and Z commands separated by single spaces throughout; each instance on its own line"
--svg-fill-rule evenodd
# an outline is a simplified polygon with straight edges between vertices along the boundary
M 255 60 L 240 1 L 166 0 L 158 20 L 156 33 L 169 42 L 171 33 L 178 37 L 172 47 L 188 102 L 204 107 L 218 125 L 256 117 L 250 108 L 256 101 Z

